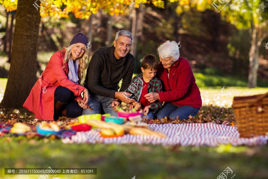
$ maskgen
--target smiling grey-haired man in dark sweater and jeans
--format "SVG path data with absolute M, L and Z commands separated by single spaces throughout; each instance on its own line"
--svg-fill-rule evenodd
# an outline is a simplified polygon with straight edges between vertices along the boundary
M 88 65 L 84 87 L 88 89 L 88 105 L 83 104 L 84 114 L 99 114 L 101 107 L 105 113 L 117 116 L 115 109 L 121 101 L 134 102 L 124 92 L 132 79 L 135 67 L 135 57 L 129 53 L 133 42 L 132 34 L 127 30 L 116 33 L 112 47 L 101 47 L 94 52 Z M 119 89 L 119 81 L 123 79 Z

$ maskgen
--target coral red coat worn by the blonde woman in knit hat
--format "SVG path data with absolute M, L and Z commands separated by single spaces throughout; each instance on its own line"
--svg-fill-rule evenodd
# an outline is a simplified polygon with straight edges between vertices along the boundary
M 54 120 L 54 92 L 59 86 L 74 92 L 74 100 L 82 99 L 81 92 L 85 90 L 85 87 L 68 80 L 68 63 L 65 63 L 66 68 L 62 69 L 64 55 L 65 49 L 63 52 L 58 51 L 52 55 L 45 71 L 42 72 L 23 104 L 23 107 L 33 112 L 37 119 Z

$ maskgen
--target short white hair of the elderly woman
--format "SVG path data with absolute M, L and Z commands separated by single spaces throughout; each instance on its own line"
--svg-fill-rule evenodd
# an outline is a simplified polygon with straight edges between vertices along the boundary
M 180 51 L 175 41 L 166 41 L 157 48 L 157 51 L 159 57 L 162 59 L 171 58 L 173 61 L 179 60 Z

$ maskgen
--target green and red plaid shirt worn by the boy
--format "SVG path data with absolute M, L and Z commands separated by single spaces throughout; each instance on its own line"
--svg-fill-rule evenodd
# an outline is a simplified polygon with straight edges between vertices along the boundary
M 131 99 L 135 99 L 137 102 L 139 102 L 143 88 L 144 88 L 143 77 L 141 73 L 133 77 L 126 92 L 132 94 L 132 96 L 129 96 Z M 162 91 L 162 85 L 161 81 L 158 78 L 155 77 L 149 81 L 147 93 L 161 92 L 161 91 Z M 154 113 L 155 115 L 158 109 L 162 106 L 162 103 L 156 100 L 155 102 L 151 103 L 150 106 L 151 109 L 149 111 Z

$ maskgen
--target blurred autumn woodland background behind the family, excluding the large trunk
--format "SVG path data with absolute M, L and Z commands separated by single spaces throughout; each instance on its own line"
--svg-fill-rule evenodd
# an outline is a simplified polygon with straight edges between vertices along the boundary
M 20 28 L 15 24 L 17 2 L 0 0 L 3 4 L 0 8 L 1 78 L 7 78 L 8 63 L 12 64 L 12 34 L 15 28 Z M 41 0 L 25 3 L 30 3 L 30 10 L 37 11 L 32 5 L 35 2 Z M 40 76 L 51 55 L 68 46 L 74 34 L 82 32 L 88 36 L 92 45 L 88 49 L 90 57 L 97 48 L 113 45 L 115 33 L 126 29 L 134 37 L 131 53 L 136 58 L 135 73 L 141 72 L 141 59 L 145 55 L 152 53 L 158 58 L 157 47 L 166 40 L 174 40 L 180 42 L 180 55 L 191 64 L 200 86 L 267 86 L 268 50 L 264 47 L 268 42 L 267 0 L 232 0 L 226 6 L 228 1 L 223 4 L 219 0 L 42 2 L 37 62 L 29 64 L 37 64 L 33 81 Z M 211 5 L 214 3 L 219 6 L 216 11 Z M 13 16 L 7 16 L 8 13 Z M 1 64 L 1 59 L 5 64 Z

